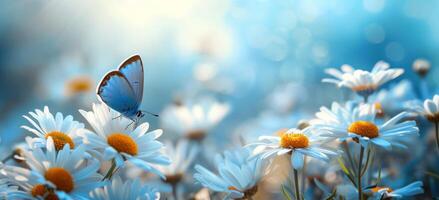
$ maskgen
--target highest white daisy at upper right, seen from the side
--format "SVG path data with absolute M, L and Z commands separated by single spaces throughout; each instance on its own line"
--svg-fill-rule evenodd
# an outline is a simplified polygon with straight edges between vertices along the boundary
M 357 94 L 367 97 L 376 91 L 381 85 L 395 79 L 404 73 L 403 69 L 389 69 L 389 64 L 379 61 L 371 72 L 360 69 L 353 69 L 349 65 L 343 65 L 341 71 L 330 68 L 326 73 L 334 78 L 325 78 L 322 81 L 334 83 L 338 87 L 347 87 Z

